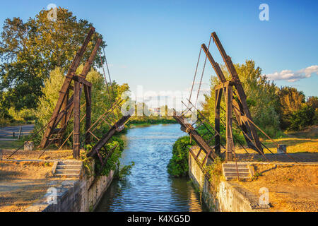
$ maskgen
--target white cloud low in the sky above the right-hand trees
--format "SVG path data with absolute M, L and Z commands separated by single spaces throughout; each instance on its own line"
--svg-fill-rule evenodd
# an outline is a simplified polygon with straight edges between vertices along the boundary
M 270 80 L 287 80 L 290 83 L 300 81 L 300 79 L 310 78 L 313 73 L 318 75 L 318 65 L 309 66 L 300 71 L 283 70 L 281 72 L 271 73 L 266 75 Z

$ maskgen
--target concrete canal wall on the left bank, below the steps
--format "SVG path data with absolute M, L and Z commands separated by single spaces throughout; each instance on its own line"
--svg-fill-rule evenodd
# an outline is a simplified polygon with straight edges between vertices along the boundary
M 85 172 L 85 170 L 82 171 Z M 112 171 L 108 177 L 103 176 L 98 179 L 83 173 L 81 179 L 64 180 L 59 186 L 52 185 L 53 192 L 57 191 L 57 196 L 52 196 L 52 191 L 49 191 L 36 204 L 26 209 L 25 212 L 93 211 L 98 206 L 100 199 L 113 179 L 114 172 Z M 57 199 L 52 197 L 57 197 Z

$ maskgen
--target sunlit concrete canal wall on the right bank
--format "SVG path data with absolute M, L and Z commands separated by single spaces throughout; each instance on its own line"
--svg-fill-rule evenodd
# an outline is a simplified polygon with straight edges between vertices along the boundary
M 196 154 L 196 150 L 194 150 Z M 204 156 L 199 156 L 203 158 Z M 220 182 L 213 188 L 204 173 L 196 164 L 194 157 L 189 153 L 189 177 L 194 186 L 202 193 L 204 203 L 213 212 L 259 212 L 268 211 L 269 206 L 260 206 L 259 197 L 235 182 Z

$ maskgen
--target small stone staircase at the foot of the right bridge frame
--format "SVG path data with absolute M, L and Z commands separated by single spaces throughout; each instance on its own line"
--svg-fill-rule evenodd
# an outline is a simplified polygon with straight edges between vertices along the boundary
M 235 162 L 223 163 L 222 165 L 223 175 L 227 181 L 232 181 L 237 179 L 237 169 L 239 172 L 240 179 L 252 179 L 253 172 L 246 162 L 237 162 L 237 167 Z

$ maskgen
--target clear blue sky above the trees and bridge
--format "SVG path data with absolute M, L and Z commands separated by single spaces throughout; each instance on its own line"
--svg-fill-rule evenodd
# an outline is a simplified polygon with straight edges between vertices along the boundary
M 263 3 L 269 5 L 269 21 L 259 20 Z M 155 92 L 189 89 L 199 47 L 213 31 L 234 63 L 253 59 L 263 73 L 277 72 L 272 78 L 304 75 L 300 70 L 318 64 L 318 1 L 2 1 L 0 22 L 27 20 L 48 4 L 95 25 L 108 44 L 112 77 L 133 91 L 137 85 Z M 211 53 L 223 64 L 215 47 Z M 275 82 L 318 95 L 315 70 L 310 78 Z M 208 64 L 204 89 L 213 74 Z

